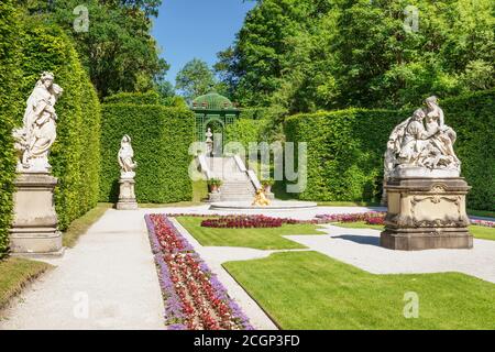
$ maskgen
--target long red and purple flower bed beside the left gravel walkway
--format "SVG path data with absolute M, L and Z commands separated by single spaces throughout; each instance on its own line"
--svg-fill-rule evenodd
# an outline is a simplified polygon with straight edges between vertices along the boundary
M 240 307 L 165 215 L 145 216 L 169 330 L 251 330 Z

